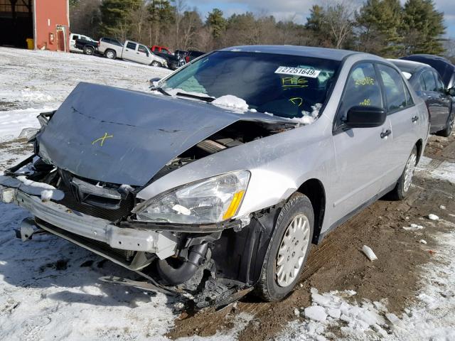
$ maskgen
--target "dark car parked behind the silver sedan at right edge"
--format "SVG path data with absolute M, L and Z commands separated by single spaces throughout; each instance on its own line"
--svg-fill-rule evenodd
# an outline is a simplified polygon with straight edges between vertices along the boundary
M 451 97 L 455 96 L 455 88 L 447 89 L 441 75 L 427 64 L 402 59 L 390 61 L 402 71 L 417 95 L 427 104 L 430 133 L 450 136 L 455 119 L 455 108 Z

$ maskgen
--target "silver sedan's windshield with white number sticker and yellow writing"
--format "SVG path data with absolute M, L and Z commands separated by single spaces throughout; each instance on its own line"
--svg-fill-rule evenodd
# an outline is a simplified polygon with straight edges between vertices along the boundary
M 231 95 L 253 111 L 295 118 L 319 113 L 339 65 L 336 60 L 297 55 L 219 51 L 184 67 L 160 86 L 171 94 Z

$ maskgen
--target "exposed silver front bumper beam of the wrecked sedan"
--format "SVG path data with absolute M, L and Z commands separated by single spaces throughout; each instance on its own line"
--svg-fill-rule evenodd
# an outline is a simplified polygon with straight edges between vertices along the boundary
M 166 259 L 176 252 L 178 238 L 172 232 L 117 227 L 109 220 L 70 210 L 56 202 L 42 201 L 41 197 L 4 185 L 0 185 L 0 201 L 14 203 L 31 212 L 38 220 L 81 237 L 104 242 L 114 249 L 146 251 L 156 254 L 159 259 Z

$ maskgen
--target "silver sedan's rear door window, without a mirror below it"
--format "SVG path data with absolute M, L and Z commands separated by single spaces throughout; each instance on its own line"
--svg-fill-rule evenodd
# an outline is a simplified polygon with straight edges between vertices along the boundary
M 405 92 L 405 83 L 400 73 L 394 68 L 378 64 L 378 70 L 381 75 L 382 84 L 384 85 L 385 100 L 387 101 L 387 110 L 396 112 L 405 109 L 408 106 L 409 91 Z M 408 95 L 408 96 L 407 96 Z

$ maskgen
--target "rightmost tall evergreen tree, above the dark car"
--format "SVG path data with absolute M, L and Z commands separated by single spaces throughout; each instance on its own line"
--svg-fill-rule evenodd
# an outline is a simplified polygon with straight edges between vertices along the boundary
M 403 53 L 444 53 L 443 39 L 446 28 L 444 13 L 434 8 L 433 0 L 407 0 L 403 10 Z

